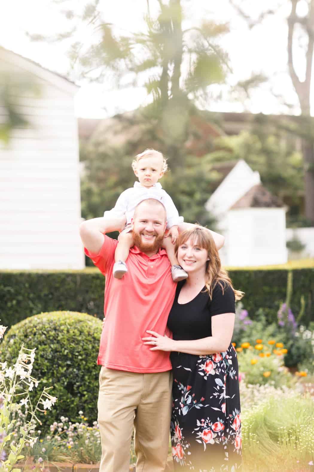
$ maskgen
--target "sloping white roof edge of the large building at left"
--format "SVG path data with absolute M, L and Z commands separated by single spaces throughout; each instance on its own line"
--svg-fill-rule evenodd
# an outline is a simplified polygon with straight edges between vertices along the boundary
M 74 84 L 74 82 L 69 80 L 67 77 L 58 74 L 58 72 L 53 72 L 46 67 L 42 67 L 37 62 L 21 56 L 20 54 L 17 54 L 17 52 L 10 51 L 9 49 L 0 46 L 0 55 L 1 62 L 6 62 L 11 66 L 21 67 L 25 72 L 38 76 L 42 80 L 63 89 L 65 92 L 74 94 L 79 88 L 78 85 Z

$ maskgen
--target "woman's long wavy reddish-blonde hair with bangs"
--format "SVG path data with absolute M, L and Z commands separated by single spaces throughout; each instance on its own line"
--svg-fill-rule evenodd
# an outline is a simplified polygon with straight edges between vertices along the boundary
M 226 284 L 228 284 L 234 292 L 235 299 L 240 300 L 243 297 L 244 293 L 240 290 L 235 290 L 232 287 L 231 279 L 228 276 L 228 272 L 222 269 L 221 267 L 221 261 L 215 245 L 215 241 L 209 231 L 201 226 L 182 231 L 182 233 L 179 234 L 175 245 L 176 255 L 178 255 L 179 246 L 186 243 L 186 241 L 188 241 L 189 239 L 191 239 L 194 244 L 198 244 L 199 247 L 207 250 L 209 261 L 206 262 L 205 285 L 210 299 L 212 299 L 213 290 L 216 284 L 219 284 L 222 287 L 222 290 L 224 290 Z

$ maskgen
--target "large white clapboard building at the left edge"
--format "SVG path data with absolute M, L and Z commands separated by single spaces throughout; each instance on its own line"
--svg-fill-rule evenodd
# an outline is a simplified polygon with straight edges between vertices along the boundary
M 21 91 L 30 123 L 0 142 L 0 270 L 82 269 L 77 86 L 0 48 L 0 74 L 27 76 L 40 94 Z M 14 97 L 13 97 L 14 99 Z M 0 120 L 5 109 L 0 103 Z

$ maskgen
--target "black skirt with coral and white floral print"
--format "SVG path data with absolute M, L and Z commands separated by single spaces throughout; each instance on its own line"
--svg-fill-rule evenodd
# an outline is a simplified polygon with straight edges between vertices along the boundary
M 171 442 L 175 471 L 233 472 L 241 466 L 238 359 L 230 344 L 217 354 L 171 353 Z

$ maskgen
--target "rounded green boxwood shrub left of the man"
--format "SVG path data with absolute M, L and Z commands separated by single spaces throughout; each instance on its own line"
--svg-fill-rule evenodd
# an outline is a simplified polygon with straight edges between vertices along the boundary
M 40 415 L 41 430 L 60 421 L 62 415 L 76 421 L 80 410 L 88 422 L 97 420 L 101 329 L 98 318 L 62 311 L 31 316 L 8 330 L 1 357 L 9 365 L 16 362 L 22 343 L 28 349 L 36 348 L 32 376 L 40 383 L 30 392 L 32 403 L 43 387 L 52 386 L 50 393 L 58 398 L 51 411 Z

